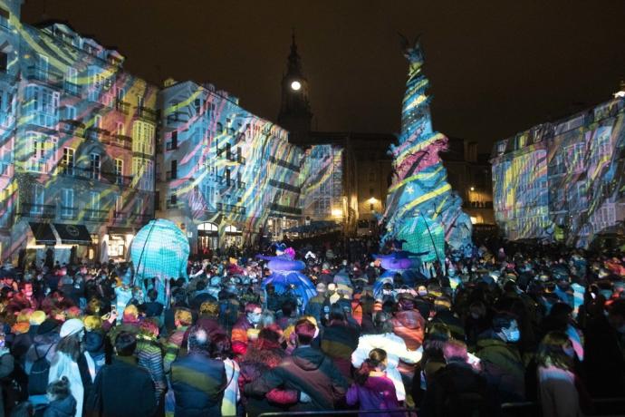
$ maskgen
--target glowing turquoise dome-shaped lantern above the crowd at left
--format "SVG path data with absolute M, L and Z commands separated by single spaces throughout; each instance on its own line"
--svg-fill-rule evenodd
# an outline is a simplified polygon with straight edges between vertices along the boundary
M 130 259 L 138 278 L 154 276 L 178 279 L 187 276 L 188 240 L 172 221 L 151 220 L 130 244 Z

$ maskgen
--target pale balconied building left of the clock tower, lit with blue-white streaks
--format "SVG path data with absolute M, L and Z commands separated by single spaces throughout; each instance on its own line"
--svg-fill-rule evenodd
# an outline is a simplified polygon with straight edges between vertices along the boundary
M 212 84 L 170 81 L 159 100 L 161 209 L 197 250 L 250 244 L 270 218 L 301 217 L 302 151 L 286 131 Z

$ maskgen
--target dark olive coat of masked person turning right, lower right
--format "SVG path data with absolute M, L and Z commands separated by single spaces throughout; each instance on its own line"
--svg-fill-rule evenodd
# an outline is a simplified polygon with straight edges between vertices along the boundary
M 525 399 L 525 368 L 518 349 L 493 334 L 477 340 L 476 356 L 480 358 L 488 383 L 495 387 L 501 402 Z

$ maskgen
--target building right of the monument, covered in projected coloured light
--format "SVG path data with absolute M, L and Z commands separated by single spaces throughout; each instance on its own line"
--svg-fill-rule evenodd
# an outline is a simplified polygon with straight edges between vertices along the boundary
M 507 238 L 588 247 L 624 232 L 624 108 L 616 98 L 495 144 L 495 218 Z

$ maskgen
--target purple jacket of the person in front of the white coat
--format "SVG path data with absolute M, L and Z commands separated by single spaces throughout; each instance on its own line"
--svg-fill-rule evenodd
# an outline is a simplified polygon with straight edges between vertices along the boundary
M 399 408 L 395 384 L 385 375 L 370 375 L 364 385 L 352 383 L 347 391 L 347 403 L 348 405 L 360 404 L 361 410 L 394 410 Z M 369 414 L 361 412 L 359 415 L 360 417 L 391 417 L 394 415 L 399 417 L 403 413 L 381 412 Z

